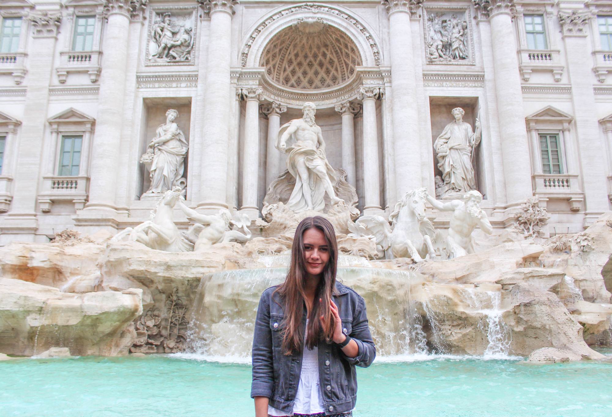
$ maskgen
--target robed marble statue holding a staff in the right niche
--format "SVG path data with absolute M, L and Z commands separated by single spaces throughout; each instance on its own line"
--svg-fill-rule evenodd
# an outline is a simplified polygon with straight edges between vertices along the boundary
M 465 111 L 456 107 L 451 111 L 455 120 L 444 128 L 444 131 L 433 143 L 438 153 L 438 168 L 442 171 L 442 196 L 452 192 L 466 192 L 476 189 L 474 180 L 474 149 L 480 143 L 482 131 L 480 120 L 476 119 L 476 131 L 463 121 Z

